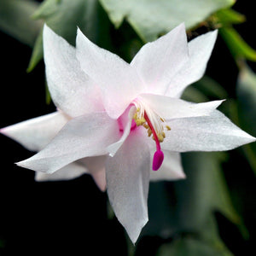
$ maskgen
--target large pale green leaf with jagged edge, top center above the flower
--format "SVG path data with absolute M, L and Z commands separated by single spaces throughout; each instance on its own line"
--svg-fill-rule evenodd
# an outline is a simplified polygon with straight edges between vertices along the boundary
M 114 26 L 127 20 L 145 41 L 152 41 L 161 33 L 185 22 L 189 29 L 206 20 L 218 9 L 227 8 L 234 0 L 100 0 Z

